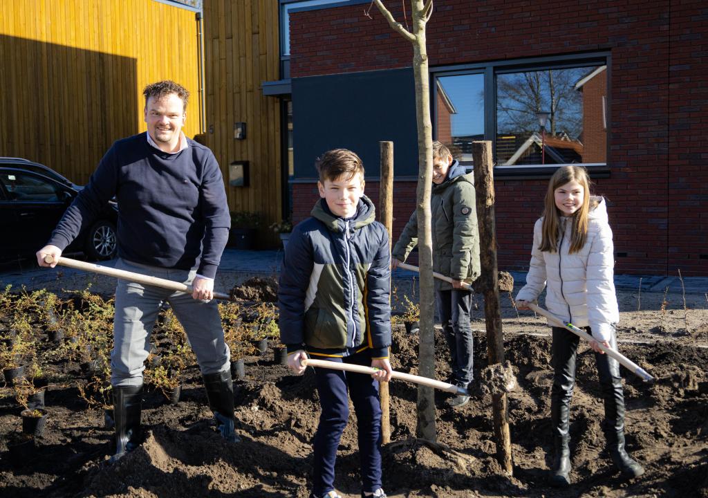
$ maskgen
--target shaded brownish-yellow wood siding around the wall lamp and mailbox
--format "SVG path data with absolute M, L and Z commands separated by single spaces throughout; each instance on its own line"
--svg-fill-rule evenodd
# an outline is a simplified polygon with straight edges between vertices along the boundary
M 261 213 L 269 225 L 282 212 L 280 100 L 263 96 L 261 82 L 279 78 L 278 0 L 205 0 L 204 19 L 205 143 L 222 165 L 229 208 Z M 234 139 L 236 122 L 246 123 L 246 140 Z M 250 186 L 230 187 L 229 163 L 242 160 Z

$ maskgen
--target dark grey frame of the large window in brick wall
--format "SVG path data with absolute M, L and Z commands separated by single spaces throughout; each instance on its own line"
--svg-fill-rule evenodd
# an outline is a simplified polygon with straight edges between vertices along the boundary
M 503 74 L 512 74 L 518 72 L 533 72 L 547 69 L 571 69 L 576 67 L 598 65 L 606 66 L 607 69 L 607 97 L 603 102 L 603 111 L 605 116 L 612 115 L 612 88 L 610 85 L 611 78 L 611 55 L 610 52 L 592 52 L 587 54 L 571 54 L 549 57 L 532 57 L 526 59 L 505 60 L 498 62 L 480 62 L 473 64 L 458 64 L 455 66 L 440 66 L 430 69 L 430 103 L 431 117 L 434 123 L 434 136 L 438 136 L 438 78 L 459 76 L 464 74 L 484 74 L 484 140 L 492 142 L 493 157 L 496 158 L 496 130 L 497 130 L 497 77 Z M 606 149 L 605 163 L 576 163 L 586 166 L 590 174 L 594 178 L 603 178 L 610 175 L 610 123 L 606 123 Z M 472 164 L 466 164 L 472 166 Z M 526 178 L 547 178 L 552 174 L 560 164 L 544 165 L 544 164 L 528 164 L 523 166 L 518 165 L 500 165 L 495 166 L 497 176 L 511 176 L 518 179 Z

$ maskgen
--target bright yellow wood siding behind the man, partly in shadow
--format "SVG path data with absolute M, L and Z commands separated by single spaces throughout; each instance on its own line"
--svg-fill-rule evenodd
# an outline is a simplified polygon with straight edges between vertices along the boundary
M 199 132 L 195 13 L 154 0 L 0 1 L 0 155 L 86 183 L 110 145 L 144 131 L 142 89 L 173 79 Z

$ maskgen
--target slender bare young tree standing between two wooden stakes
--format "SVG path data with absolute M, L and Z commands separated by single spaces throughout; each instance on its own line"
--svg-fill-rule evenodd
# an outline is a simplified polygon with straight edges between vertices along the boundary
M 421 332 L 418 350 L 419 375 L 435 378 L 435 290 L 433 286 L 433 239 L 430 228 L 430 186 L 433 183 L 433 126 L 430 123 L 426 23 L 433 14 L 433 0 L 411 0 L 413 33 L 397 22 L 382 0 L 374 0 L 384 18 L 413 45 L 413 75 L 416 84 L 418 121 L 418 261 L 421 267 Z M 435 397 L 431 387 L 418 386 L 418 437 L 435 441 Z

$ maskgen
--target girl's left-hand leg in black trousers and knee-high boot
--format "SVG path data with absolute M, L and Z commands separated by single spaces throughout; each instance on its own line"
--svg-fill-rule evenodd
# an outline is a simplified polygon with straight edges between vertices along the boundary
M 551 424 L 554 456 L 549 484 L 564 487 L 571 483 L 570 404 L 575 386 L 578 336 L 554 327 L 552 349 L 554 375 L 551 389 Z

